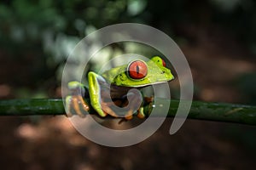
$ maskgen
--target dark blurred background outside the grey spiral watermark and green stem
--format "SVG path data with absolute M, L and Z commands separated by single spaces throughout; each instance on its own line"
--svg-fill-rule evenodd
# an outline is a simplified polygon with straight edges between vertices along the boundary
M 0 3 L 0 99 L 60 98 L 61 73 L 81 38 L 136 22 L 172 37 L 187 57 L 195 99 L 255 105 L 252 0 L 14 0 Z M 154 55 L 154 54 L 152 54 Z M 125 148 L 84 139 L 65 116 L 2 116 L 1 169 L 254 169 L 256 127 L 169 118 Z

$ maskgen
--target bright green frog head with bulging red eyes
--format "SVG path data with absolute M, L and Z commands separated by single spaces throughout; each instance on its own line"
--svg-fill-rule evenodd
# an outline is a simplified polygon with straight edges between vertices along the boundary
M 140 59 L 131 61 L 129 65 L 121 65 L 103 73 L 102 77 L 113 85 L 132 88 L 168 82 L 174 78 L 166 68 L 166 62 L 159 56 L 147 62 Z

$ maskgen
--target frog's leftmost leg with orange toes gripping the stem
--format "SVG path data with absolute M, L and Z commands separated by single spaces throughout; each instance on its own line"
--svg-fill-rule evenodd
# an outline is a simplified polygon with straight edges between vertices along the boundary
M 68 88 L 71 90 L 71 95 L 66 97 L 66 111 L 67 116 L 79 115 L 85 116 L 89 111 L 89 105 L 84 101 L 82 94 L 84 94 L 84 85 L 80 82 L 68 82 Z

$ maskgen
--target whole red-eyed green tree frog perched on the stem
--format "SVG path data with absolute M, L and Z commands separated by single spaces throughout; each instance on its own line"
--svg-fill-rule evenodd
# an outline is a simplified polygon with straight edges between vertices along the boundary
M 113 111 L 112 106 L 127 105 L 127 102 L 124 104 L 124 100 L 127 101 L 127 98 L 130 98 L 130 106 L 126 108 L 125 119 L 131 119 L 135 111 L 137 111 L 138 117 L 143 118 L 145 115 L 140 99 L 141 94 L 138 95 L 137 91 L 131 92 L 129 90 L 168 82 L 173 78 L 172 72 L 166 68 L 166 62 L 159 56 L 155 56 L 147 62 L 140 59 L 133 60 L 128 65 L 115 67 L 103 72 L 102 75 L 90 71 L 88 73 L 90 105 L 102 117 L 108 114 L 118 116 L 119 113 Z M 72 94 L 66 97 L 67 116 L 74 114 L 85 116 L 84 113 L 90 110 L 90 106 L 85 102 L 80 92 L 84 93 L 86 88 L 80 82 L 69 82 L 68 88 Z

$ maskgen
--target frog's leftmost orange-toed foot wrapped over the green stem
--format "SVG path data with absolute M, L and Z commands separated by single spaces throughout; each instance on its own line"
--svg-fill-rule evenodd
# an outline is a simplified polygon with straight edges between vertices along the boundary
M 66 97 L 67 116 L 79 115 L 84 117 L 89 109 L 81 95 L 68 95 Z

